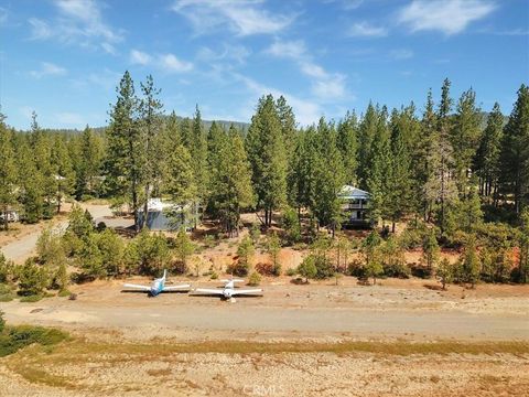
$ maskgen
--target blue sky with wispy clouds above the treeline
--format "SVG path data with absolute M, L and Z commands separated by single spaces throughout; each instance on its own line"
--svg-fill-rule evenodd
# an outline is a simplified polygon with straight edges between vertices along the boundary
M 165 112 L 249 121 L 284 95 L 298 122 L 369 100 L 422 111 L 445 77 L 509 114 L 529 82 L 526 0 L 0 0 L 8 124 L 106 124 L 126 69 L 152 74 Z

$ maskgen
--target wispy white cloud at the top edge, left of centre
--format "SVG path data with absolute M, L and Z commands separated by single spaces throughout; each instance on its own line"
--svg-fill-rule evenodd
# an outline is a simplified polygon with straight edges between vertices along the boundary
M 273 34 L 282 31 L 293 17 L 271 14 L 260 0 L 175 0 L 172 10 L 187 18 L 198 33 L 220 25 L 239 35 Z

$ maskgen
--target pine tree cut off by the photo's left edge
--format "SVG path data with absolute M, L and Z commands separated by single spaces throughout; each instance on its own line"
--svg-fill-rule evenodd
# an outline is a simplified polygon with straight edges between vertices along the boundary
M 0 215 L 3 228 L 9 228 L 8 210 L 17 201 L 17 168 L 13 148 L 13 133 L 6 126 L 6 116 L 0 114 Z

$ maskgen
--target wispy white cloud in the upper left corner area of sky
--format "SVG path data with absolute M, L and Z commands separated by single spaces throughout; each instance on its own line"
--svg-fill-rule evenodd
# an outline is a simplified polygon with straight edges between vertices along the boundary
M 114 44 L 123 40 L 123 33 L 104 21 L 100 7 L 95 0 L 54 0 L 53 3 L 57 10 L 53 20 L 28 20 L 31 40 L 53 37 L 66 44 L 75 43 L 101 49 L 109 54 L 116 53 Z

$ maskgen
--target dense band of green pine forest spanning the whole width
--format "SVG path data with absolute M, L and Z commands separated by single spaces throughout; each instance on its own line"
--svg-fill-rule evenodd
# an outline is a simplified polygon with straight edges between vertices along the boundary
M 193 118 L 166 114 L 153 78 L 134 85 L 126 72 L 104 131 L 45 131 L 34 115 L 30 131 L 19 132 L 2 116 L 0 205 L 34 223 L 67 197 L 106 197 L 129 204 L 140 230 L 140 208 L 162 196 L 218 222 L 228 235 L 238 233 L 242 212 L 258 213 L 264 228 L 279 214 L 283 244 L 295 244 L 341 229 L 337 194 L 350 184 L 369 192 L 369 219 L 382 232 L 408 223 L 408 240 L 399 245 L 422 245 L 432 255 L 427 262 L 436 261 L 439 245 L 463 247 L 471 273 L 481 255 L 481 264 L 505 267 L 490 279 L 525 282 L 529 87 L 520 86 L 512 109 L 495 104 L 486 119 L 477 104 L 472 88 L 454 99 L 445 79 L 441 97 L 430 90 L 420 107 L 370 103 L 337 121 L 322 117 L 300 128 L 285 98 L 267 95 L 247 130 L 216 121 L 206 128 L 198 106 Z M 381 242 L 373 236 L 365 244 L 368 258 L 370 245 Z M 516 275 L 506 276 L 512 267 Z

